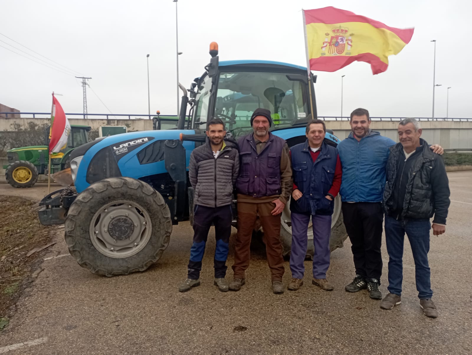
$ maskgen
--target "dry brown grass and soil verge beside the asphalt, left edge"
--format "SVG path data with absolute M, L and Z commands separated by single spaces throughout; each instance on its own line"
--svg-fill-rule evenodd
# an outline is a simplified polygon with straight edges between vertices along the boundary
M 0 330 L 8 324 L 8 310 L 21 295 L 32 265 L 43 255 L 26 254 L 49 244 L 53 231 L 39 222 L 36 203 L 0 195 Z

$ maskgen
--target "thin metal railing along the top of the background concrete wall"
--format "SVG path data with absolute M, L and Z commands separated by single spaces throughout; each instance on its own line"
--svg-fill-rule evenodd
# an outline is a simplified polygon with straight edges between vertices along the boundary
M 15 117 L 15 115 L 33 115 L 33 118 L 37 118 L 36 116 L 46 116 L 46 117 L 38 117 L 38 118 L 48 118 L 51 117 L 51 112 L 0 112 L 1 116 L 5 116 L 5 118 Z M 81 116 L 81 118 L 103 118 L 106 119 L 118 119 L 122 117 L 127 117 L 128 119 L 152 119 L 156 115 L 137 115 L 137 114 L 105 114 L 105 113 L 66 113 L 66 116 Z M 91 117 L 89 117 L 91 116 Z M 177 115 L 161 115 L 161 116 L 170 116 L 170 117 L 177 117 Z M 22 118 L 29 118 L 29 117 L 22 117 Z M 319 119 L 325 121 L 349 121 L 350 117 L 339 117 L 339 116 L 318 116 Z M 406 117 L 371 117 L 372 121 L 401 121 Z M 419 121 L 451 121 L 451 122 L 472 122 L 472 118 L 428 118 L 428 117 L 415 117 Z

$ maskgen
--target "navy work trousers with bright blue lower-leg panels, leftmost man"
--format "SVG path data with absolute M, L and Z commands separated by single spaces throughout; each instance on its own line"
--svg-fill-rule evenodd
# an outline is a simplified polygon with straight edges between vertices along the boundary
M 194 211 L 194 243 L 190 249 L 188 278 L 198 279 L 202 270 L 202 259 L 211 223 L 215 226 L 216 249 L 214 256 L 215 277 L 226 275 L 229 237 L 231 235 L 231 205 L 222 207 L 205 207 L 196 205 Z

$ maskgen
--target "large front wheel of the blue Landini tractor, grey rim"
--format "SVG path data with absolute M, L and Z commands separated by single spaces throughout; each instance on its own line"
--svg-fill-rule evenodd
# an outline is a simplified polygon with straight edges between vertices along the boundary
M 70 206 L 65 237 L 70 254 L 94 274 L 144 271 L 169 245 L 172 222 L 162 196 L 133 178 L 108 178 Z

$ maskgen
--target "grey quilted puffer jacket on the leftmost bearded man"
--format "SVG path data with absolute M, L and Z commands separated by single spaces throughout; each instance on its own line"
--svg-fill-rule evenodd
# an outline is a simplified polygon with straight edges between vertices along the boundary
M 239 155 L 236 144 L 224 142 L 216 159 L 208 138 L 190 154 L 188 177 L 195 189 L 194 204 L 220 207 L 232 202 L 239 173 Z

